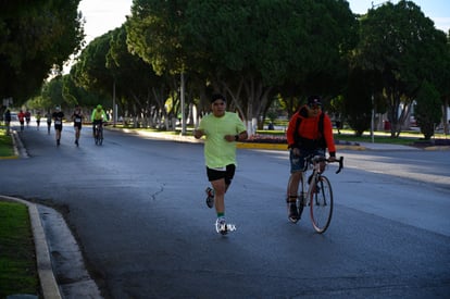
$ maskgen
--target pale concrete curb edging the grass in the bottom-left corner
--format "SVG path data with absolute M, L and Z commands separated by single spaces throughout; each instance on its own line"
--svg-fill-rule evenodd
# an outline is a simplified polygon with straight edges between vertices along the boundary
M 60 289 L 57 284 L 57 279 L 53 274 L 50 251 L 36 204 L 18 198 L 8 196 L 0 196 L 0 200 L 14 201 L 27 205 L 32 224 L 33 237 L 35 240 L 36 264 L 39 274 L 42 296 L 46 299 L 62 299 Z

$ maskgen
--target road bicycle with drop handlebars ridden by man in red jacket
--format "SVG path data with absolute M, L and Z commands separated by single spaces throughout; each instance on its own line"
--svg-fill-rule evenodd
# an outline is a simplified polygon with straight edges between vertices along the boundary
M 343 167 L 343 157 L 340 157 L 336 162 L 339 163 L 336 173 L 340 173 Z M 318 234 L 325 233 L 332 222 L 333 215 L 332 183 L 329 183 L 329 179 L 323 175 L 323 171 L 321 172 L 322 163 L 325 163 L 325 167 L 327 167 L 332 162 L 322 155 L 309 155 L 305 158 L 301 177 L 301 188 L 297 197 L 299 217 L 301 216 L 303 209 L 309 207 L 312 225 Z M 308 170 L 312 170 L 312 174 L 307 182 L 305 177 Z

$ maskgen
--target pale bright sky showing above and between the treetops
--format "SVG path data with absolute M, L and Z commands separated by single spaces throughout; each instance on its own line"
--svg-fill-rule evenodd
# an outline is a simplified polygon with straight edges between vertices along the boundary
M 364 14 L 372 5 L 376 7 L 386 1 L 350 0 L 350 10 L 353 13 Z M 392 3 L 398 1 L 391 0 Z M 413 0 L 425 16 L 435 22 L 436 28 L 448 33 L 450 29 L 450 1 L 449 0 Z M 133 0 L 82 0 L 78 10 L 82 11 L 86 24 L 86 41 L 109 30 L 122 26 L 125 15 L 130 14 Z

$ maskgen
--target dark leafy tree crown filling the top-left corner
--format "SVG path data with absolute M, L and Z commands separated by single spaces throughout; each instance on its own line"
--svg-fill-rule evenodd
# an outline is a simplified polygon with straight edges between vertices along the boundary
M 37 94 L 50 70 L 62 68 L 84 38 L 79 0 L 0 3 L 0 98 L 21 104 Z

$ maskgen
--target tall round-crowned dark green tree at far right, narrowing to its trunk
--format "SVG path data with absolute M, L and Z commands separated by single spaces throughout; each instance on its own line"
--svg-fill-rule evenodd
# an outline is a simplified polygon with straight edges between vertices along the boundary
M 386 2 L 361 20 L 359 65 L 378 72 L 388 107 L 391 136 L 409 116 L 422 82 L 439 68 L 445 36 L 411 1 Z

